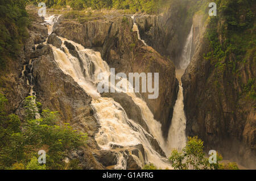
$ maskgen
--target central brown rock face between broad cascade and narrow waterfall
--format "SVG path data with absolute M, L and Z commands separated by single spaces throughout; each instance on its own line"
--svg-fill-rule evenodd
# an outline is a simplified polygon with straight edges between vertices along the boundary
M 60 18 L 54 32 L 85 48 L 100 51 L 116 73 L 159 73 L 158 99 L 148 99 L 148 93 L 141 95 L 155 119 L 162 123 L 163 135 L 167 137 L 178 91 L 175 67 L 153 48 L 144 46 L 132 27 L 133 20 L 128 16 L 84 24 Z

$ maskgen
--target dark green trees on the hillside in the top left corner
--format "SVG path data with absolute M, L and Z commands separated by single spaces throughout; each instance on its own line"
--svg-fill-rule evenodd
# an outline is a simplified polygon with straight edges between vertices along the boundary
M 16 57 L 27 39 L 29 25 L 24 0 L 0 0 L 0 69 L 8 57 Z

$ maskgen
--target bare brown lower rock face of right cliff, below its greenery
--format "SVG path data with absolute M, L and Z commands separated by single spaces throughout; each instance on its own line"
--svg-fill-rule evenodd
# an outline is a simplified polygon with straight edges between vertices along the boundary
M 237 65 L 241 77 L 236 76 L 205 60 L 204 54 L 210 51 L 205 33 L 197 41 L 191 64 L 182 77 L 186 132 L 199 136 L 205 150 L 218 150 L 225 159 L 255 169 L 255 101 L 243 92 L 243 85 L 255 77 L 253 56 L 247 57 L 246 64 Z M 228 59 L 234 61 L 234 56 Z

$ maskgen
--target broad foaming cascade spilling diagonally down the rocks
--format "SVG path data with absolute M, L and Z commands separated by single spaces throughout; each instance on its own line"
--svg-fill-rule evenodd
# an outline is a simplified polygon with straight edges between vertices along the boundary
M 148 136 L 153 136 L 159 141 L 159 145 L 162 148 L 164 147 L 165 142 L 162 137 L 161 124 L 154 119 L 154 115 L 147 107 L 146 102 L 138 98 L 134 93 L 127 93 L 134 103 L 141 108 L 142 117 L 148 125 L 150 133 L 143 129 L 141 125 L 135 123 L 134 120 L 129 119 L 122 106 L 115 102 L 113 98 L 104 98 L 97 92 L 96 85 L 100 82 L 98 74 L 105 73 L 106 76 L 110 75 L 110 68 L 102 60 L 100 52 L 85 49 L 82 45 L 63 37 L 59 38 L 62 41 L 61 49 L 51 45 L 55 61 L 65 74 L 70 75 L 92 97 L 92 107 L 96 111 L 96 117 L 101 126 L 95 137 L 100 148 L 110 150 L 113 145 L 120 145 L 126 149 L 142 144 L 146 153 L 146 163 L 153 163 L 162 169 L 166 167 L 171 169 L 168 160 L 161 157 L 148 140 Z M 75 45 L 82 64 L 77 57 L 69 53 L 64 41 Z M 92 69 L 92 66 L 94 69 Z M 127 81 L 127 79 L 122 79 L 122 81 Z M 140 162 L 140 160 L 137 159 L 137 162 Z M 138 165 L 142 165 L 142 163 L 138 163 Z M 126 161 L 122 154 L 119 154 L 118 165 L 114 168 L 126 169 Z

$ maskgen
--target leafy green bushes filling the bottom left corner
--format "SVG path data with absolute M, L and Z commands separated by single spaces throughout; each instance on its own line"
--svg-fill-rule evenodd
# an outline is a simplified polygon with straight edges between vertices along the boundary
M 35 119 L 40 103 L 34 96 L 24 101 L 26 119 L 5 113 L 7 99 L 0 94 L 0 169 L 79 169 L 77 161 L 69 166 L 63 160 L 68 151 L 85 145 L 86 134 L 74 130 L 68 123 L 60 124 L 57 112 L 43 110 Z M 40 111 L 41 112 L 41 111 Z M 46 165 L 39 165 L 38 151 L 46 151 Z

